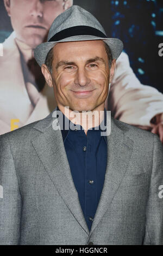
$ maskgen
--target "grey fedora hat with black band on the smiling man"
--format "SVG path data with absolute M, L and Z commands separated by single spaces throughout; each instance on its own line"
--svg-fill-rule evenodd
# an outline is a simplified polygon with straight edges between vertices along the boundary
M 34 57 L 41 67 L 45 63 L 47 53 L 55 44 L 86 40 L 105 41 L 115 59 L 120 56 L 123 50 L 122 41 L 117 38 L 108 38 L 104 28 L 92 14 L 78 5 L 72 5 L 53 21 L 47 42 L 39 44 L 35 48 Z

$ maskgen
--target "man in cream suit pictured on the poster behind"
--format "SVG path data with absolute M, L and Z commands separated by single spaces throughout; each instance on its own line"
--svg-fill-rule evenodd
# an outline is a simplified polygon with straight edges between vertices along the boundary
M 0 64 L 3 110 L 0 134 L 10 131 L 11 120 L 21 127 L 44 118 L 57 106 L 52 88 L 45 85 L 41 91 L 44 80 L 40 79 L 40 69 L 37 70 L 36 65 L 31 73 L 30 58 L 55 17 L 72 3 L 72 0 L 30 0 L 28 3 L 26 0 L 4 0 L 14 32 L 3 44 L 4 55 Z M 11 71 L 10 76 L 8 70 Z M 111 110 L 118 120 L 152 130 L 163 142 L 162 105 L 162 93 L 151 86 L 140 84 L 130 68 L 127 54 L 122 52 L 117 61 L 109 98 L 106 99 L 106 109 Z

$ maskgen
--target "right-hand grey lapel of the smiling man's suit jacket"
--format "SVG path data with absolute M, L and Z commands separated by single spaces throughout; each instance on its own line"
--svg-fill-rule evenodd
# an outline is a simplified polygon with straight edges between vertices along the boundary
M 108 114 L 108 113 L 107 113 Z M 124 174 L 127 171 L 133 140 L 129 139 L 122 129 L 116 125 L 116 120 L 111 117 L 111 133 L 107 136 L 108 159 L 105 172 L 104 186 L 97 207 L 95 218 L 93 219 L 90 235 L 101 221 L 104 213 L 108 210 L 118 187 L 121 184 Z

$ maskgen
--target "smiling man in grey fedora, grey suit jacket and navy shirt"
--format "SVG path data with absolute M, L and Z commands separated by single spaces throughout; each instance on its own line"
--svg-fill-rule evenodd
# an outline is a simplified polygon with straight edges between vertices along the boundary
M 163 244 L 162 144 L 104 109 L 122 49 L 77 5 L 36 47 L 57 109 L 0 137 L 1 244 Z

